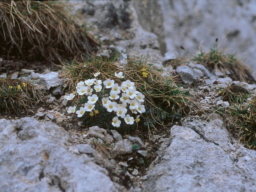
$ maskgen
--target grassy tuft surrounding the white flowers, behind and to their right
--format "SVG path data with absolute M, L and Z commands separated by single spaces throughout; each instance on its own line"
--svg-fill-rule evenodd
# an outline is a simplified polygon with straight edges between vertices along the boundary
M 189 108 L 188 92 L 180 90 L 175 83 L 175 77 L 163 75 L 160 69 L 154 68 L 154 63 L 147 64 L 144 57 L 128 58 L 128 63 L 122 66 L 119 66 L 118 57 L 119 55 L 112 58 L 93 56 L 82 62 L 78 62 L 76 59 L 66 62 L 64 74 L 69 77 L 70 91 L 74 90 L 78 82 L 94 78 L 93 74 L 97 72 L 101 73 L 97 78 L 102 82 L 108 78 L 113 79 L 119 85 L 126 80 L 134 82 L 137 91 L 145 95 L 143 105 L 145 105 L 146 112 L 140 114 L 140 127 L 152 128 L 156 124 L 163 124 L 166 120 L 177 120 L 181 117 L 184 109 Z M 120 71 L 123 72 L 125 78 L 119 79 L 114 76 L 115 72 Z M 106 115 L 106 117 L 111 115 L 107 111 L 105 114 L 99 114 L 102 122 L 98 123 L 102 124 L 102 128 L 106 128 L 106 123 L 109 120 L 107 121 L 101 115 Z M 129 127 L 132 126 L 129 125 Z

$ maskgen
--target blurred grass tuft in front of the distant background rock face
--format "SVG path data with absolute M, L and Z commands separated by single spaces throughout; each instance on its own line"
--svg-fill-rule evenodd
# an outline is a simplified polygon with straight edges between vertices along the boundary
M 208 52 L 203 52 L 201 49 L 200 53 L 194 56 L 193 61 L 206 66 L 210 72 L 220 70 L 235 81 L 248 83 L 254 81 L 249 66 L 242 63 L 236 54 L 225 54 L 224 50 L 218 50 L 217 41 L 218 39 Z M 227 71 L 230 73 L 226 73 Z

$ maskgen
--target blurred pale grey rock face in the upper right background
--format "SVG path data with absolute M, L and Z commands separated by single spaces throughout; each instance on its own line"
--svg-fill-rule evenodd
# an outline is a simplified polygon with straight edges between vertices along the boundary
M 256 1 L 160 0 L 167 51 L 196 53 L 200 44 L 208 50 L 218 38 L 221 46 L 238 53 L 256 71 Z M 150 12 L 150 11 L 149 11 Z M 230 49 L 231 48 L 231 49 Z

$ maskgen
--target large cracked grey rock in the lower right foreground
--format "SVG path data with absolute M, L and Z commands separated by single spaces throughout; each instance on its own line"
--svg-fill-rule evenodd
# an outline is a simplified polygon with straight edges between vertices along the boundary
M 143 191 L 255 191 L 256 151 L 238 144 L 219 119 L 193 119 L 171 128 Z

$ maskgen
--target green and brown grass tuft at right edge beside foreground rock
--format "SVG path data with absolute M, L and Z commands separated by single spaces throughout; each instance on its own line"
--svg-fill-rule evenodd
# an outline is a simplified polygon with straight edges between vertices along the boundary
M 231 104 L 221 112 L 225 114 L 228 129 L 246 148 L 256 149 L 256 96 L 234 84 L 223 89 L 220 95 Z

